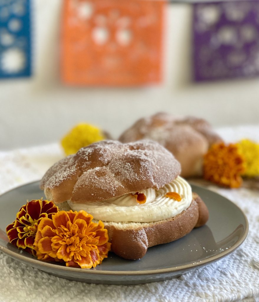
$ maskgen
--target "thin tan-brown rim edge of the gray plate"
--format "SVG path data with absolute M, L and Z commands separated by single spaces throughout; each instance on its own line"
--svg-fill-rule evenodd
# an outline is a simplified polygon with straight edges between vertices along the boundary
M 13 190 L 16 190 L 18 188 L 27 186 L 27 185 L 33 185 L 36 183 L 39 183 L 40 180 L 34 181 L 34 182 L 28 182 L 25 183 L 23 185 L 19 185 L 17 187 L 14 187 L 8 191 L 5 191 L 4 193 L 0 194 L 0 197 L 2 198 L 5 194 L 10 193 Z M 248 219 L 245 215 L 245 213 L 243 212 L 243 210 L 241 210 L 240 207 L 238 207 L 234 202 L 232 202 L 231 200 L 229 200 L 228 198 L 226 198 L 225 196 L 214 192 L 212 190 L 209 190 L 208 188 L 202 186 L 202 185 L 197 185 L 197 184 L 193 184 L 190 183 L 191 186 L 196 186 L 198 188 L 202 188 L 206 191 L 212 192 L 213 194 L 219 195 L 220 197 L 225 198 L 228 202 L 230 202 L 233 206 L 235 206 L 240 212 L 241 214 L 244 216 L 245 218 L 245 230 L 243 235 L 241 236 L 241 238 L 230 248 L 228 248 L 227 250 L 222 251 L 221 253 L 211 256 L 209 258 L 206 258 L 204 260 L 202 260 L 202 262 L 193 262 L 192 265 L 191 263 L 188 264 L 184 264 L 184 265 L 180 265 L 180 266 L 174 266 L 171 268 L 160 268 L 160 269 L 152 269 L 152 270 L 140 270 L 140 271 L 102 271 L 102 270 L 95 270 L 95 269 L 82 269 L 82 268 L 73 268 L 73 267 L 67 267 L 67 266 L 62 266 L 62 265 L 58 265 L 58 264 L 54 264 L 54 263 L 50 263 L 50 262 L 44 262 L 44 261 L 40 261 L 38 259 L 34 259 L 34 258 L 29 258 L 29 257 L 25 257 L 22 254 L 18 254 L 17 252 L 11 251 L 10 249 L 8 249 L 7 247 L 3 246 L 0 243 L 0 251 L 5 253 L 6 255 L 10 256 L 13 259 L 16 259 L 18 261 L 21 262 L 27 262 L 28 264 L 31 264 L 33 267 L 38 266 L 43 266 L 43 267 L 47 267 L 47 268 L 53 268 L 53 269 L 58 269 L 59 271 L 70 271 L 70 272 L 77 272 L 77 273 L 84 273 L 84 274 L 96 274 L 96 275 L 120 275 L 120 276 L 130 276 L 130 275 L 158 275 L 158 274 L 166 274 L 166 273 L 172 273 L 172 272 L 177 272 L 177 271 L 183 271 L 186 269 L 190 269 L 190 268 L 197 268 L 199 266 L 203 266 L 206 265 L 208 263 L 213 263 L 216 260 L 219 260 L 221 258 L 224 258 L 225 256 L 227 256 L 228 254 L 232 253 L 235 251 L 235 249 L 237 249 L 246 239 L 247 235 L 248 235 L 248 231 L 249 231 L 249 223 L 248 223 Z M 9 243 L 10 244 L 10 243 Z M 19 250 L 19 249 L 18 249 Z M 105 261 L 105 259 L 104 259 Z

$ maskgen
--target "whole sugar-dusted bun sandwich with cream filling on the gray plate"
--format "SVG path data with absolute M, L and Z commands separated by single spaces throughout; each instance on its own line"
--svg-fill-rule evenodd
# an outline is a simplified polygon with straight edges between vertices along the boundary
M 102 220 L 112 251 L 142 258 L 208 219 L 203 201 L 179 176 L 174 156 L 154 141 L 101 141 L 54 164 L 43 176 L 46 198 Z

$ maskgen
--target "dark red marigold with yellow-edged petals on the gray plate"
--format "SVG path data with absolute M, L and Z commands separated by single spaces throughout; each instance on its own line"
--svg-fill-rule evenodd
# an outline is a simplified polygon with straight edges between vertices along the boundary
M 38 199 L 27 202 L 16 214 L 14 222 L 6 227 L 9 242 L 36 255 L 33 244 L 38 224 L 43 218 L 51 218 L 57 212 L 58 207 L 53 201 Z

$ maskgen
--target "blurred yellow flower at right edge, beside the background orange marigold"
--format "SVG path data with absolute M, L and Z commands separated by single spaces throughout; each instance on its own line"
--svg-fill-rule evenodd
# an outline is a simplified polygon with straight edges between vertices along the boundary
M 237 143 L 239 152 L 245 158 L 245 172 L 243 175 L 254 177 L 259 175 L 259 144 L 244 139 Z

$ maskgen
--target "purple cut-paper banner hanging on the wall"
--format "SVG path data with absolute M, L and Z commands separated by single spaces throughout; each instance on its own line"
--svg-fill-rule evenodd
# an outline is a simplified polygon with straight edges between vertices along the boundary
M 194 5 L 194 80 L 259 75 L 259 1 Z

